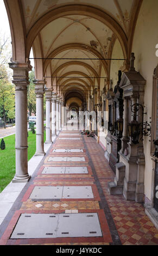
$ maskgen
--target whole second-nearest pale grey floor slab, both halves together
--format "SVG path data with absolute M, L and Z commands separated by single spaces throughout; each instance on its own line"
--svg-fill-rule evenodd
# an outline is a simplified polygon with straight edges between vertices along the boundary
M 35 186 L 30 199 L 94 198 L 91 186 Z

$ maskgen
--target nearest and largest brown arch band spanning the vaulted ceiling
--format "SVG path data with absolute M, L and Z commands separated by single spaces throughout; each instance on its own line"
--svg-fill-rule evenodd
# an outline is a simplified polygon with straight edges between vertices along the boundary
M 54 10 L 49 11 L 47 14 L 43 15 L 33 27 L 31 27 L 30 31 L 27 35 L 27 56 L 29 56 L 31 45 L 33 45 L 33 41 L 36 35 L 41 31 L 43 27 L 45 27 L 48 23 L 52 22 L 59 17 L 63 17 L 66 15 L 86 15 L 97 19 L 98 21 L 104 23 L 108 26 L 113 33 L 116 34 L 118 40 L 121 43 L 124 58 L 128 56 L 128 40 L 125 32 L 122 27 L 116 22 L 109 14 L 104 11 L 90 7 L 87 5 L 81 4 L 72 4 L 65 5 L 63 7 L 56 8 Z

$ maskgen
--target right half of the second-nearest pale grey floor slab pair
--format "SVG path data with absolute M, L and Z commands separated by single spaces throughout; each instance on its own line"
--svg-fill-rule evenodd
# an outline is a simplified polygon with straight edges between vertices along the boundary
M 62 198 L 94 198 L 91 186 L 64 186 Z

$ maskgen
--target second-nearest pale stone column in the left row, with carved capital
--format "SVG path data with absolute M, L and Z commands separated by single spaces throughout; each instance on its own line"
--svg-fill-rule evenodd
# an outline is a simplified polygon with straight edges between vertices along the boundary
M 36 94 L 36 153 L 35 156 L 45 155 L 43 129 L 43 94 L 45 81 L 34 80 Z

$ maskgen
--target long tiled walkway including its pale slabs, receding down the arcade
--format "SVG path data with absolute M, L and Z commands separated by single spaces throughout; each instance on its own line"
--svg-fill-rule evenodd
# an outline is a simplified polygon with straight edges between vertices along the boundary
M 96 139 L 62 130 L 0 226 L 0 245 L 158 245 L 143 205 L 110 196 Z

